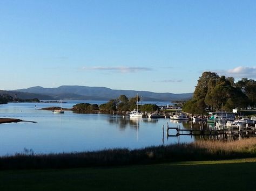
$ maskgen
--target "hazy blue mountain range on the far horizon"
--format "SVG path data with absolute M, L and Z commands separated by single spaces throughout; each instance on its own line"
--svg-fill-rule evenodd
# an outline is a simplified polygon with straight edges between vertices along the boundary
M 139 93 L 143 96 L 143 101 L 183 101 L 193 96 L 193 93 L 172 94 L 172 93 L 153 93 L 151 91 L 135 90 L 114 90 L 105 87 L 88 86 L 60 86 L 58 88 L 43 88 L 40 86 L 28 89 L 17 89 L 12 91 L 17 96 L 35 96 L 39 100 L 112 100 L 120 95 L 134 97 Z M 28 97 L 26 97 L 28 98 Z M 33 97 L 34 98 L 34 97 Z

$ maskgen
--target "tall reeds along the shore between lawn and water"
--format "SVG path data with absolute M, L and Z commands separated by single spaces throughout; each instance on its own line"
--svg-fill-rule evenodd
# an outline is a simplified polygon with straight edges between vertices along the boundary
M 151 146 L 137 150 L 116 148 L 57 154 L 37 154 L 25 149 L 24 153 L 1 157 L 0 169 L 77 168 L 248 157 L 256 157 L 256 138 L 233 142 L 199 140 L 188 144 Z

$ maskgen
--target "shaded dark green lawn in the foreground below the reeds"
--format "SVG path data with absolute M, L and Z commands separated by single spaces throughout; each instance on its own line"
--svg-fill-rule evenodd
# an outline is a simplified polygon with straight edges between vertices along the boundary
M 0 171 L 0 190 L 255 190 L 255 161 Z

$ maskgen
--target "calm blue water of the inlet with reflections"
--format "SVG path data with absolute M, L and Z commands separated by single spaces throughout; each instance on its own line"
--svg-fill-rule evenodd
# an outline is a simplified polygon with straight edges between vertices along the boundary
M 72 108 L 72 105 L 78 102 L 63 103 L 63 108 Z M 0 105 L 1 118 L 19 118 L 37 122 L 0 124 L 0 155 L 22 153 L 24 148 L 32 149 L 35 153 L 59 153 L 161 145 L 163 144 L 163 125 L 166 127 L 167 122 L 169 126 L 174 127 L 180 125 L 183 128 L 185 125 L 183 124 L 185 122 L 177 124 L 170 119 L 131 120 L 118 115 L 73 114 L 72 111 L 65 111 L 65 114 L 52 114 L 51 111 L 39 110 L 52 106 L 59 106 L 59 103 Z M 181 136 L 179 141 L 193 142 L 194 138 Z M 164 144 L 177 142 L 176 137 L 167 139 L 166 130 L 164 131 Z

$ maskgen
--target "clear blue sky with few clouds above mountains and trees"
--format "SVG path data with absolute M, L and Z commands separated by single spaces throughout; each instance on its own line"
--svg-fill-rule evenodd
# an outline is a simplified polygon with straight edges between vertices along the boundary
M 255 8 L 255 0 L 0 0 L 0 89 L 192 93 L 205 71 L 256 80 Z

